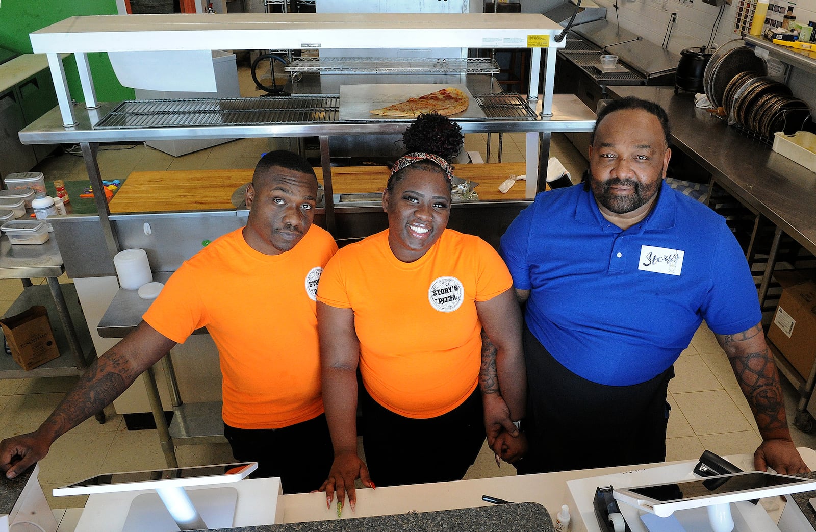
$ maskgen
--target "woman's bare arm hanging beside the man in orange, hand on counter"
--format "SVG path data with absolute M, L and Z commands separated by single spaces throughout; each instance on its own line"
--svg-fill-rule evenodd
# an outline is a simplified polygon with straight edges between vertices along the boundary
M 352 510 L 357 503 L 354 481 L 372 487 L 366 464 L 357 455 L 357 364 L 360 344 L 354 330 L 354 311 L 317 302 L 317 332 L 320 335 L 320 363 L 323 406 L 329 423 L 335 461 L 329 478 L 320 486 L 326 491 L 326 505 L 337 492 L 342 504 L 348 494 Z

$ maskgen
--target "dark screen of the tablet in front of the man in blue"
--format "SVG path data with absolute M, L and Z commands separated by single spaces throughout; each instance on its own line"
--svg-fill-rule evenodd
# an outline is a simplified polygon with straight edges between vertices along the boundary
M 710 497 L 712 495 L 734 493 L 746 490 L 761 490 L 778 485 L 795 484 L 807 479 L 778 477 L 752 472 L 734 477 L 710 477 L 676 484 L 649 485 L 628 488 L 628 491 L 660 501 L 670 503 L 682 499 Z

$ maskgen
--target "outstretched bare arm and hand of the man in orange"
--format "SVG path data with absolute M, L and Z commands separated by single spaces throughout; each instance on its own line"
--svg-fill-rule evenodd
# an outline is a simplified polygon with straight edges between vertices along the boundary
M 144 321 L 91 363 L 40 428 L 0 442 L 0 469 L 14 478 L 42 459 L 56 439 L 108 406 L 175 342 Z

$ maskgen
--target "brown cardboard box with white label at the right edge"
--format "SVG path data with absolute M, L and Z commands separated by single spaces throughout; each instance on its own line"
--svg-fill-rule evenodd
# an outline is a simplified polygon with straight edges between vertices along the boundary
M 805 379 L 816 361 L 816 282 L 782 290 L 768 339 Z

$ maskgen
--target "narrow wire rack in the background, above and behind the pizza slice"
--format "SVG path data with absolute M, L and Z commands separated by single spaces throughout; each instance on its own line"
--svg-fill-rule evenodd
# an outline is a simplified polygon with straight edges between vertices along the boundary
M 286 72 L 332 73 L 499 73 L 499 65 L 489 58 L 380 58 L 380 57 L 295 57 Z

